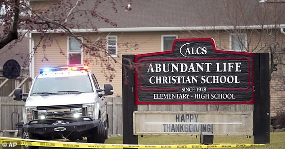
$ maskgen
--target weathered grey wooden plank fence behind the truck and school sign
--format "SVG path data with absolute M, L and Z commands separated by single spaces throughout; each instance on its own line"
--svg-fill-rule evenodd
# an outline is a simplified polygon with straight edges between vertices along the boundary
M 12 97 L 0 97 L 0 130 L 16 130 L 15 124 L 22 121 L 24 101 L 15 101 Z M 108 134 L 123 134 L 122 97 L 107 98 L 109 116 Z M 253 111 L 253 105 L 139 105 L 138 111 Z

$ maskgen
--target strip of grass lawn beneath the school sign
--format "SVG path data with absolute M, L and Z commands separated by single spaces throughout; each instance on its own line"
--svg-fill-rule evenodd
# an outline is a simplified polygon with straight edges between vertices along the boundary
M 109 137 L 106 144 L 122 144 L 123 137 Z M 214 144 L 220 143 L 248 143 L 253 144 L 253 136 L 214 136 Z M 174 144 L 200 144 L 200 136 L 139 136 L 140 145 L 174 145 Z M 260 147 L 247 147 L 236 149 L 284 149 L 285 133 L 271 133 L 270 144 Z M 235 148 L 231 148 L 235 149 Z

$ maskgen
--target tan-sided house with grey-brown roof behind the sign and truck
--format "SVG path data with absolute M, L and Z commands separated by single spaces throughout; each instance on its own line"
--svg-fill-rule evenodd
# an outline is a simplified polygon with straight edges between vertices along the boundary
M 31 6 L 33 9 L 46 9 L 54 2 L 56 0 L 31 0 Z M 88 0 L 81 6 L 93 4 L 94 1 Z M 105 50 L 110 55 L 105 58 L 107 61 L 113 59 L 121 62 L 123 54 L 171 50 L 176 38 L 200 37 L 213 38 L 217 49 L 246 52 L 273 50 L 272 53 L 283 60 L 284 0 L 132 0 L 126 9 L 118 9 L 117 12 L 107 0 L 99 5 L 98 11 L 108 18 L 105 21 L 89 20 L 98 30 L 84 25 L 83 17 L 76 17 L 71 23 L 82 22 L 84 26 L 72 31 L 94 41 L 106 39 Z M 109 21 L 116 24 L 106 23 Z M 40 68 L 88 62 L 89 69 L 95 72 L 97 79 L 109 81 L 106 75 L 111 75 L 114 96 L 122 96 L 120 63 L 111 62 L 115 71 L 103 69 L 104 62 L 92 56 L 94 53 L 83 51 L 78 41 L 61 34 L 60 29 L 58 32 L 53 39 L 41 43 L 41 35 L 37 31 L 31 32 L 30 52 L 35 52 L 30 65 L 31 77 L 35 77 Z M 33 51 L 35 47 L 37 49 Z M 285 105 L 284 83 L 280 81 L 279 74 L 283 74 L 282 67 L 278 68 L 271 80 L 273 116 Z

